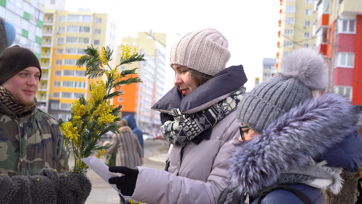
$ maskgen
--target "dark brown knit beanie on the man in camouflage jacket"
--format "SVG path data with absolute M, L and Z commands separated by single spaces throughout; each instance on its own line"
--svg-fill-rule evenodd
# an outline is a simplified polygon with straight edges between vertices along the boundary
M 0 85 L 16 73 L 30 66 L 39 68 L 40 80 L 42 69 L 40 68 L 38 57 L 31 50 L 18 45 L 5 49 L 0 55 Z

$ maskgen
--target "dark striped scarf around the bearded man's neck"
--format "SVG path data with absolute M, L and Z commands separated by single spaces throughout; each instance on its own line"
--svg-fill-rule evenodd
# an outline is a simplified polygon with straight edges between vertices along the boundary
M 35 103 L 34 106 L 31 106 L 30 108 L 17 103 L 3 86 L 0 86 L 0 101 L 3 102 L 3 104 L 8 107 L 8 109 L 12 111 L 19 119 L 31 117 L 34 115 L 35 110 L 37 109 L 37 105 L 35 105 Z

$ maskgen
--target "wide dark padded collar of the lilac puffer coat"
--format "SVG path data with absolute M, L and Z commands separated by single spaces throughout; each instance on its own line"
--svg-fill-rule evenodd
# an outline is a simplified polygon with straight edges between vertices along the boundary
M 247 80 L 243 65 L 231 66 L 215 74 L 187 96 L 174 86 L 151 109 L 168 113 L 173 108 L 180 108 L 183 114 L 205 110 L 239 89 Z

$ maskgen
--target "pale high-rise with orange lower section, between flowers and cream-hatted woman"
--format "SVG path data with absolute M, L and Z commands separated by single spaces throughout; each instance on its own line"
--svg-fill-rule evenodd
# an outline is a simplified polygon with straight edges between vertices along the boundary
M 133 115 L 137 126 L 143 131 L 160 130 L 160 116 L 158 111 L 151 110 L 163 96 L 165 80 L 165 44 L 166 34 L 149 32 L 138 32 L 129 37 L 122 38 L 123 45 L 136 47 L 139 54 L 144 54 L 145 62 L 134 62 L 131 65 L 122 66 L 124 69 L 138 68 L 137 74 L 143 83 L 123 85 L 121 92 L 123 95 L 114 98 L 114 105 L 122 105 L 122 115 Z M 122 47 L 118 46 L 117 62 L 122 53 Z

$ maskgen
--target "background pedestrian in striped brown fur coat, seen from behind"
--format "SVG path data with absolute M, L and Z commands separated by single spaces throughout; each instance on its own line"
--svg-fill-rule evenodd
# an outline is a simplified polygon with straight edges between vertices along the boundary
M 137 135 L 132 133 L 132 130 L 125 119 L 118 121 L 117 127 L 119 133 L 112 136 L 111 144 L 113 145 L 107 150 L 107 154 L 112 155 L 116 152 L 115 165 L 117 166 L 124 166 L 127 168 L 141 166 L 143 164 L 143 152 Z M 119 196 L 121 198 L 121 204 L 129 203 L 128 201 L 125 201 L 121 195 Z

